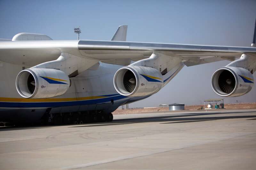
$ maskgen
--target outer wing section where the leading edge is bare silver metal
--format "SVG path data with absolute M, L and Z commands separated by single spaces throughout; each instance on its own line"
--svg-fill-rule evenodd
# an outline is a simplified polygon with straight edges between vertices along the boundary
M 152 52 L 183 59 L 185 64 L 197 65 L 220 60 L 234 61 L 243 53 L 256 53 L 252 47 L 205 46 L 188 44 L 165 44 L 145 42 L 79 41 L 78 49 L 82 55 L 92 58 L 141 60 Z

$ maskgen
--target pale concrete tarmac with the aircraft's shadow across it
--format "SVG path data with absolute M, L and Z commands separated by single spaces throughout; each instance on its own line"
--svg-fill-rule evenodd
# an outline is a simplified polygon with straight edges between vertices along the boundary
M 0 128 L 0 169 L 256 169 L 256 110 Z

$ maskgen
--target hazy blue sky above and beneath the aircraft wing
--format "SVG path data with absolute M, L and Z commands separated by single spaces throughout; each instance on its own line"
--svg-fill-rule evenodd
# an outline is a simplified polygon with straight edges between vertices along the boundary
M 49 35 L 54 40 L 110 40 L 119 25 L 128 25 L 127 41 L 250 46 L 256 18 L 255 0 L 225 1 L 8 1 L 0 0 L 0 38 L 16 33 Z M 228 62 L 184 67 L 160 92 L 131 107 L 181 102 L 202 104 L 219 98 L 212 73 Z M 254 74 L 254 77 L 256 75 Z M 256 102 L 256 89 L 226 102 Z

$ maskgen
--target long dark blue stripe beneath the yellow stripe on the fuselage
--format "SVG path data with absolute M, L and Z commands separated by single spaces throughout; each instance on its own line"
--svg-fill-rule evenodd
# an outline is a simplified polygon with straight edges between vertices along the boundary
M 111 100 L 120 100 L 127 98 L 126 96 L 118 95 L 103 99 L 82 100 L 82 101 L 64 101 L 64 102 L 0 102 L 0 107 L 64 107 L 64 106 L 79 106 L 92 105 L 99 103 L 111 102 Z

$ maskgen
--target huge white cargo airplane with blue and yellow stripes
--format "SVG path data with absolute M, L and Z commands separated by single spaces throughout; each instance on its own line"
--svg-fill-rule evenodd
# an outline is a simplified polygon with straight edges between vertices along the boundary
M 54 125 L 110 122 L 119 106 L 161 90 L 186 66 L 231 61 L 212 74 L 222 97 L 251 91 L 251 47 L 127 42 L 127 26 L 111 41 L 57 41 L 36 33 L 0 40 L 0 122 Z

